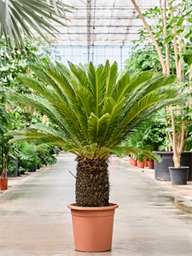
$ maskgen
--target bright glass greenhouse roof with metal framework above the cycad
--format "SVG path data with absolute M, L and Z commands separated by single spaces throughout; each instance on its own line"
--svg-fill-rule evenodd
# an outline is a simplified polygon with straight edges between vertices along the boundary
M 137 11 L 131 0 L 68 0 L 67 4 L 77 10 L 66 13 L 71 20 L 67 20 L 68 27 L 56 26 L 61 34 L 54 39 L 55 45 L 129 46 L 143 26 L 142 20 L 134 19 Z M 159 6 L 160 0 L 137 0 L 137 4 L 144 12 Z

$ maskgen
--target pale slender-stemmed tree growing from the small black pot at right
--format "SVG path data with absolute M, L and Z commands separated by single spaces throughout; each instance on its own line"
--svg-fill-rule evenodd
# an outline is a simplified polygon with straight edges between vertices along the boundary
M 139 9 L 135 0 L 131 0 L 134 4 L 140 18 L 143 20 L 143 24 L 148 31 L 148 34 L 154 44 L 155 49 L 157 50 L 157 54 L 160 58 L 160 65 L 162 68 L 163 73 L 170 73 L 170 56 L 172 56 L 172 52 L 170 52 L 169 44 L 172 43 L 173 51 L 174 51 L 174 60 L 175 60 L 175 67 L 177 78 L 183 82 L 183 57 L 179 55 L 179 51 L 183 48 L 183 38 L 189 38 L 192 30 L 190 26 L 185 26 L 185 20 L 189 20 L 191 22 L 191 18 L 189 18 L 192 3 L 190 1 L 184 1 L 179 3 L 175 6 L 172 6 L 172 1 L 164 1 L 164 9 L 162 9 L 161 0 L 160 0 L 160 22 L 162 23 L 163 33 L 164 33 L 164 49 L 166 52 L 166 60 L 163 57 L 162 50 L 160 49 L 160 45 L 158 44 L 157 39 L 154 37 L 154 33 L 148 26 L 148 23 L 145 20 L 144 15 L 142 14 L 141 10 Z M 168 9 L 168 14 L 167 14 Z M 177 13 L 177 15 L 175 15 Z M 148 15 L 148 14 L 146 14 Z M 167 19 L 168 16 L 168 19 Z M 191 63 L 188 63 L 191 66 Z M 189 75 L 189 81 L 191 81 L 191 72 Z M 191 120 L 191 113 L 189 104 L 186 105 L 185 110 L 188 110 L 187 115 L 183 118 L 183 114 L 186 111 L 182 111 L 180 108 L 173 108 L 172 106 L 169 107 L 169 111 L 171 113 L 171 119 L 166 117 L 166 125 L 169 125 L 169 121 L 172 122 L 172 132 L 168 130 L 168 137 L 172 143 L 172 151 L 173 151 L 173 161 L 174 166 L 180 166 L 180 158 L 181 153 L 183 151 L 184 143 L 187 138 L 188 130 L 189 130 L 189 123 Z M 177 109 L 177 113 L 175 113 Z M 176 122 L 176 116 L 180 115 L 180 122 Z M 177 118 L 178 120 L 178 118 Z M 176 126 L 177 123 L 177 126 Z

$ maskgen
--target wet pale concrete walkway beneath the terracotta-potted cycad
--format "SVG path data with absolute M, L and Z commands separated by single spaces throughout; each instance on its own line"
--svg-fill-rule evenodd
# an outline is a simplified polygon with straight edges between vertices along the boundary
M 80 253 L 73 248 L 67 204 L 74 202 L 76 162 L 60 154 L 1 195 L 1 256 L 192 256 L 192 218 L 173 204 L 166 187 L 141 172 L 131 172 L 113 157 L 110 201 L 119 204 L 113 249 Z

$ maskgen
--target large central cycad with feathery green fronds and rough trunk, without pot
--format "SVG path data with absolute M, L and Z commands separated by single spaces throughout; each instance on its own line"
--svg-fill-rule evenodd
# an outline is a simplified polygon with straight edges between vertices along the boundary
M 121 143 L 158 109 L 185 101 L 179 88 L 172 86 L 174 75 L 143 72 L 125 73 L 119 80 L 118 65 L 94 67 L 61 63 L 32 65 L 39 79 L 20 76 L 24 84 L 39 95 L 9 94 L 15 102 L 31 105 L 48 116 L 51 126 L 31 125 L 25 131 L 13 131 L 10 143 L 35 141 L 49 143 L 77 154 L 76 205 L 108 206 L 110 155 L 145 154 L 160 157 Z M 40 81 L 41 80 L 41 81 Z

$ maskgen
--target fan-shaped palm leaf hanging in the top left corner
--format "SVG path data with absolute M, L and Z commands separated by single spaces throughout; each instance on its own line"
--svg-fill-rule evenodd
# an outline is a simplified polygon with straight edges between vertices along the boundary
M 66 12 L 70 9 L 73 7 L 61 0 L 0 0 L 0 37 L 5 38 L 13 49 L 14 41 L 19 49 L 20 44 L 25 48 L 23 34 L 33 38 L 34 32 L 38 32 L 45 38 L 47 32 L 55 37 L 55 32 L 59 31 L 53 21 L 66 26 L 63 21 L 67 20 Z

